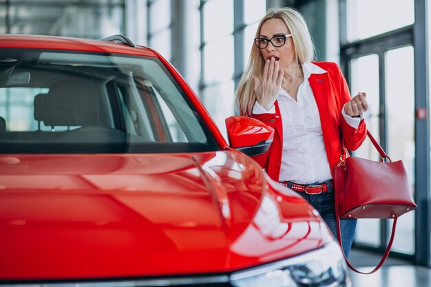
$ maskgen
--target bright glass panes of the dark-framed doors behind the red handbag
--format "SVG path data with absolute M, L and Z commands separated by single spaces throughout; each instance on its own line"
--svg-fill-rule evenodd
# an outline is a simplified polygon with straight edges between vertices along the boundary
M 381 138 L 380 126 L 383 124 L 383 136 L 386 153 L 392 160 L 403 160 L 408 172 L 410 187 L 414 192 L 414 67 L 413 47 L 400 47 L 384 53 L 385 96 L 380 99 L 379 55 L 370 54 L 350 61 L 351 90 L 367 92 L 371 116 L 367 127 L 375 138 Z M 401 72 L 402 71 L 402 72 Z M 384 105 L 381 105 L 384 103 Z M 385 112 L 380 114 L 381 107 Z M 379 160 L 379 153 L 370 140 L 355 151 L 355 156 Z M 380 220 L 359 220 L 356 242 L 378 248 L 381 242 Z M 392 245 L 392 251 L 409 255 L 414 254 L 414 212 L 399 218 L 398 229 Z M 390 234 L 391 224 L 387 226 Z M 383 242 L 383 245 L 386 242 Z

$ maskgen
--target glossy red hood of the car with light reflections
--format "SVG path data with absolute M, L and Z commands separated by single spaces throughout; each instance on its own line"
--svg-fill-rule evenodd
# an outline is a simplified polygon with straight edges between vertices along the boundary
M 222 273 L 329 236 L 236 151 L 0 156 L 0 226 L 3 280 Z

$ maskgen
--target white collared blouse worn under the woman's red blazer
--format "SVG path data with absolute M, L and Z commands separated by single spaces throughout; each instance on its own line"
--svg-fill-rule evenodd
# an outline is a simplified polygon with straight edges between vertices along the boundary
M 297 102 L 280 88 L 277 98 L 283 126 L 282 165 L 280 182 L 292 181 L 299 184 L 324 182 L 332 178 L 322 134 L 319 109 L 314 98 L 308 78 L 311 74 L 326 73 L 313 63 L 302 64 L 304 82 L 299 85 Z M 275 107 L 269 111 L 257 102 L 253 114 L 275 114 Z M 348 125 L 359 127 L 361 118 L 348 116 L 344 109 L 342 114 Z

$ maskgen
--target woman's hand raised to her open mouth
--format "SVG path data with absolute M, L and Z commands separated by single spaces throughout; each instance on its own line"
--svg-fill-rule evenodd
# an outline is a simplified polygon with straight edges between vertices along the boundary
M 282 87 L 283 73 L 283 70 L 278 67 L 278 62 L 271 58 L 265 62 L 262 83 L 256 76 L 252 75 L 257 103 L 267 111 L 273 107 L 275 100 L 277 100 L 280 87 Z

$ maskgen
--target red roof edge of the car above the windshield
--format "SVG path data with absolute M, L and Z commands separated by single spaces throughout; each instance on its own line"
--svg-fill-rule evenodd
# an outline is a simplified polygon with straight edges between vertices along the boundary
M 0 34 L 0 48 L 74 50 L 158 57 L 158 54 L 148 47 L 131 47 L 114 41 L 81 39 L 65 36 Z

